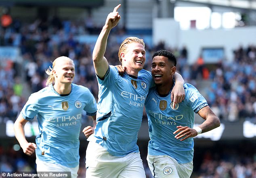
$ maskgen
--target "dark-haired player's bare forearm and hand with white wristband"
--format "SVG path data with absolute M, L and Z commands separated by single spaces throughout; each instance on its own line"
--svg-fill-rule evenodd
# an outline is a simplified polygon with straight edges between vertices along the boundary
M 205 119 L 205 121 L 198 128 L 196 128 L 196 130 L 188 126 L 177 126 L 178 129 L 173 132 L 173 134 L 178 133 L 175 135 L 176 139 L 183 141 L 189 137 L 197 136 L 200 132 L 208 132 L 220 126 L 220 119 L 212 112 L 209 106 L 201 108 L 201 110 L 199 110 L 197 113 L 199 116 Z M 200 132 L 198 132 L 198 130 L 200 130 Z

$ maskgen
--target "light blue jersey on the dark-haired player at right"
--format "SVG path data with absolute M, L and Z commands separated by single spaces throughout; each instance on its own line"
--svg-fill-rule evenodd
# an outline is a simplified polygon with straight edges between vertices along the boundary
M 149 155 L 169 155 L 178 163 L 184 164 L 193 160 L 194 141 L 188 138 L 180 141 L 174 138 L 176 126 L 193 128 L 195 113 L 208 106 L 206 99 L 191 84 L 185 83 L 185 99 L 172 107 L 170 93 L 161 96 L 156 87 L 149 90 L 145 107 L 149 122 Z

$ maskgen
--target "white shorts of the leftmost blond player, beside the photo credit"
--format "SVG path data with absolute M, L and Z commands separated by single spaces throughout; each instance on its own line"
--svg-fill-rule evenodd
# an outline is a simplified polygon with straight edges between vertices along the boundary
M 52 164 L 45 161 L 36 159 L 36 171 L 37 172 L 71 172 L 71 178 L 78 177 L 79 165 L 75 168 L 68 168 L 60 164 Z M 39 176 L 40 177 L 40 176 Z

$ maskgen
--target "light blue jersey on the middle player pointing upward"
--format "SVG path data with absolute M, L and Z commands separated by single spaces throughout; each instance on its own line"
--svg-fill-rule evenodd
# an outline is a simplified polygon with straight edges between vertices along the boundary
M 117 68 L 109 66 L 104 80 L 97 77 L 99 100 L 94 135 L 87 140 L 99 143 L 113 156 L 138 152 L 136 144 L 151 72 L 141 70 L 138 78 L 126 72 L 121 77 Z

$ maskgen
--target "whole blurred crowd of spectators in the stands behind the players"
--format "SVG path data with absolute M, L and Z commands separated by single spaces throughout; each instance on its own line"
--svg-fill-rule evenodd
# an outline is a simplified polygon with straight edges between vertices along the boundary
M 33 23 L 21 23 L 13 19 L 12 25 L 0 28 L 0 47 L 18 47 L 23 59 L 22 63 L 12 60 L 0 63 L 0 123 L 15 120 L 29 94 L 45 87 L 45 70 L 59 56 L 68 56 L 74 60 L 74 83 L 88 87 L 97 99 L 98 85 L 91 57 L 94 43 L 79 42 L 77 36 L 98 33 L 99 29 L 92 27 L 88 20 L 71 22 L 61 21 L 58 17 L 37 19 Z M 118 49 L 124 34 L 125 29 L 118 27 L 110 34 L 105 56 L 111 65 L 120 64 Z M 178 62 L 177 70 L 186 82 L 200 89 L 206 86 L 201 86 L 199 81 L 210 81 L 205 97 L 221 121 L 248 119 L 256 123 L 256 46 L 238 46 L 234 49 L 233 59 L 224 59 L 209 68 L 201 57 L 194 64 L 188 64 L 189 52 L 185 46 L 181 49 L 167 48 L 164 42 L 160 42 L 151 47 L 146 43 L 145 69 L 150 70 L 151 56 L 159 49 L 174 53 Z M 81 151 L 80 177 L 85 174 L 84 150 Z M 145 147 L 141 155 L 148 178 L 151 178 L 146 153 Z M 206 154 L 200 168 L 196 170 L 198 177 L 256 178 L 255 155 L 237 157 L 239 153 L 235 151 L 229 155 L 229 159 L 214 159 Z M 35 171 L 35 156 L 28 159 L 21 150 L 15 151 L 13 146 L 0 146 L 0 171 Z

